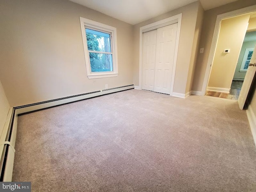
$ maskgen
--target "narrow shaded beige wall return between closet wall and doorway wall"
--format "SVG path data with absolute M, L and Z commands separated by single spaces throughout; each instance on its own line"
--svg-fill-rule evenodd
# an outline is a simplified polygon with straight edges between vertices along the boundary
M 201 31 L 202 31 L 203 19 L 204 19 L 204 9 L 200 3 L 199 7 L 198 7 L 197 18 L 196 18 L 196 29 L 195 29 L 195 34 L 194 34 L 192 53 L 191 53 L 191 58 L 190 58 L 189 70 L 188 70 L 186 93 L 188 93 L 192 90 L 194 70 L 196 67 L 196 59 L 197 59 L 197 54 L 199 51 L 199 42 L 200 42 L 200 35 L 201 35 Z

